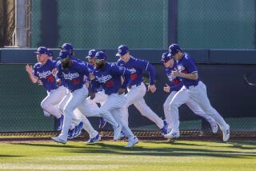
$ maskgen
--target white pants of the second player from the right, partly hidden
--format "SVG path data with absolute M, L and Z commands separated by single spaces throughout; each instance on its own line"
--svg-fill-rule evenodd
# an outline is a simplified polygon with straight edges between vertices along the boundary
M 166 98 L 165 103 L 163 104 L 163 109 L 164 109 L 164 113 L 166 116 L 166 121 L 168 124 L 168 128 L 167 129 L 172 129 L 173 125 L 175 125 L 177 127 L 177 124 L 179 124 L 178 122 L 173 123 L 172 119 L 171 119 L 171 115 L 172 113 L 170 113 L 170 102 L 173 100 L 174 95 L 177 93 L 177 91 L 172 91 L 169 96 Z M 187 102 L 186 105 L 198 116 L 200 117 L 204 117 L 206 119 L 206 121 L 210 122 L 210 125 L 215 123 L 216 121 L 214 120 L 213 117 L 210 117 L 210 115 L 207 115 L 202 108 L 200 107 L 200 105 L 198 105 L 197 101 L 194 101 L 193 98 L 190 98 Z M 177 119 L 176 119 L 177 121 Z

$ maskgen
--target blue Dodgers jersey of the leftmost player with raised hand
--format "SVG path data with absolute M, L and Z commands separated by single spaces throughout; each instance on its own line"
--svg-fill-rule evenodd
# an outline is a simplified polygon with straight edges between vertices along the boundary
M 56 61 L 50 59 L 47 60 L 45 65 L 42 65 L 39 62 L 34 65 L 34 76 L 41 80 L 43 87 L 47 91 L 58 88 L 56 79 L 52 74 L 54 68 L 56 68 Z

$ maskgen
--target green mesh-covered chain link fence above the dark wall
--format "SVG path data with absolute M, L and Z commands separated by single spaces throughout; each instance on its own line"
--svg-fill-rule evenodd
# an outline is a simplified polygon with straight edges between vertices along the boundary
M 255 49 L 254 0 L 179 0 L 177 28 L 169 26 L 171 1 L 34 0 L 32 46 L 166 49 L 170 30 L 178 30 L 186 49 Z

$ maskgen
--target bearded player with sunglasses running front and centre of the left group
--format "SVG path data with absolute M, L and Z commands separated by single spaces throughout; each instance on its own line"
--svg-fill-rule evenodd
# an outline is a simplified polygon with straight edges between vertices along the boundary
M 128 145 L 126 145 L 126 147 L 133 147 L 138 143 L 138 138 L 134 136 L 134 133 L 131 132 L 120 114 L 122 106 L 126 103 L 124 93 L 126 85 L 129 82 L 130 71 L 106 62 L 106 54 L 102 51 L 97 52 L 95 62 L 96 68 L 94 69 L 93 75 L 90 75 L 93 85 L 90 97 L 94 99 L 95 89 L 98 89 L 100 85 L 102 85 L 102 89 L 105 90 L 108 97 L 106 102 L 100 107 L 100 113 L 113 114 L 113 117 L 120 125 L 122 125 L 121 128 L 125 131 L 128 137 Z M 121 82 L 121 77 L 124 78 L 124 82 Z M 120 134 L 118 137 L 114 137 L 114 139 L 117 140 L 119 137 Z

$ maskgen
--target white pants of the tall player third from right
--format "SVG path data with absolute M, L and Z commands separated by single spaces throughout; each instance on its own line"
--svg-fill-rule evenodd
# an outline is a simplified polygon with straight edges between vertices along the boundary
M 163 121 L 156 113 L 153 112 L 152 109 L 148 105 L 146 105 L 146 101 L 144 100 L 144 96 L 146 94 L 146 86 L 142 82 L 141 85 L 131 87 L 128 89 L 128 93 L 126 93 L 126 104 L 122 107 L 122 115 L 124 117 L 124 121 L 126 121 L 128 125 L 128 108 L 130 105 L 134 104 L 134 106 L 138 109 L 138 111 L 144 116 L 150 119 L 150 121 L 154 121 L 156 125 L 160 129 L 162 129 Z

